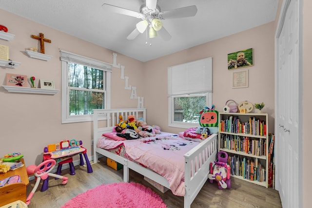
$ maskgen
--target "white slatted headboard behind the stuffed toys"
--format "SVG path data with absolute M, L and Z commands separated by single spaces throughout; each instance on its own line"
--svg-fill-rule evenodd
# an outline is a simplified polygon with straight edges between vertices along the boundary
M 94 145 L 104 132 L 112 132 L 115 124 L 119 123 L 119 115 L 122 115 L 123 120 L 127 120 L 129 115 L 134 115 L 136 119 L 143 117 L 146 121 L 146 109 L 94 109 L 93 110 L 93 140 Z

